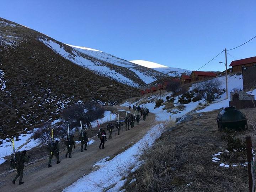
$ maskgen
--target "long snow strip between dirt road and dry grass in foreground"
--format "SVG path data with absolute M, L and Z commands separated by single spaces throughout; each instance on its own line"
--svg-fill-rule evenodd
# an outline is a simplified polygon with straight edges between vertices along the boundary
M 152 127 L 151 130 L 138 143 L 134 144 L 123 153 L 115 156 L 110 161 L 106 161 L 107 159 L 104 158 L 102 161 L 97 162 L 96 165 L 99 166 L 100 169 L 80 178 L 63 191 L 95 192 L 102 191 L 104 188 L 106 189 L 112 185 L 116 186 L 117 184 L 118 187 L 114 187 L 114 189 L 112 189 L 114 191 L 119 191 L 119 188 L 124 185 L 124 182 L 121 181 L 123 173 L 130 170 L 130 167 L 136 164 L 139 156 L 145 149 L 145 143 L 148 146 L 151 146 L 154 141 L 160 137 L 160 134 L 161 133 L 158 126 Z M 123 183 L 123 185 L 121 185 L 121 183 Z

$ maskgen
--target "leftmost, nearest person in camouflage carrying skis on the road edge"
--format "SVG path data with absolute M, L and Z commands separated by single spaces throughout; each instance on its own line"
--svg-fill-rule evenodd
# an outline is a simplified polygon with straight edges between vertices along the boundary
M 28 162 L 28 159 L 30 159 L 30 156 L 26 156 L 27 151 L 24 150 L 22 153 L 16 153 L 16 160 L 17 160 L 17 175 L 15 176 L 14 180 L 12 180 L 12 183 L 15 185 L 15 181 L 17 180 L 18 177 L 19 179 L 19 185 L 22 185 L 24 182 L 22 182 L 22 177 L 23 177 L 23 169 L 24 169 L 24 163 Z

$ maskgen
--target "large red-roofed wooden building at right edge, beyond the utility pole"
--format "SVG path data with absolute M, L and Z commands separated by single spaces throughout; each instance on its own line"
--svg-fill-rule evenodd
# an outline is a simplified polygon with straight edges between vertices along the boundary
M 255 65 L 256 65 L 256 57 L 250 57 L 250 58 L 232 61 L 229 66 L 232 67 L 233 72 L 242 72 L 242 67 L 255 66 Z

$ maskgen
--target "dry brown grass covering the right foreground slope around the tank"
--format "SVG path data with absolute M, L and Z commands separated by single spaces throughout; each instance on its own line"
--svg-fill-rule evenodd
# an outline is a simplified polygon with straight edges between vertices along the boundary
M 253 110 L 242 111 L 247 117 L 253 113 Z M 130 174 L 124 188 L 127 191 L 249 191 L 247 167 L 239 165 L 246 161 L 246 156 L 238 160 L 223 154 L 217 156 L 220 162 L 212 162 L 212 155 L 227 147 L 222 139 L 225 133 L 218 130 L 218 112 L 204 113 L 201 116 L 195 114 L 193 121 L 162 134 L 153 148 L 143 155 L 145 164 L 137 172 Z M 251 128 L 238 133 L 242 140 L 247 135 L 254 135 L 255 138 Z M 220 167 L 220 163 L 238 166 L 226 168 Z M 129 185 L 132 178 L 137 181 Z

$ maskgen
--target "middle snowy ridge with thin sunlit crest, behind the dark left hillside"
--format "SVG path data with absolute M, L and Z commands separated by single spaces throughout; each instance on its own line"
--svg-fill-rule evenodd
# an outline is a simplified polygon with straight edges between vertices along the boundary
M 157 80 L 158 78 L 165 76 L 162 73 L 159 73 L 152 69 L 148 69 L 143 66 L 131 63 L 127 60 L 115 57 L 111 54 L 104 53 L 100 50 L 86 48 L 86 47 L 80 47 L 80 46 L 73 46 L 73 45 L 69 45 L 69 44 L 67 44 L 67 45 L 70 47 L 73 47 L 77 51 L 84 53 L 86 55 L 89 55 L 95 59 L 102 60 L 103 62 L 108 62 L 110 64 L 120 66 L 123 68 L 127 68 L 127 69 L 133 71 L 137 75 L 138 78 L 140 78 L 142 81 L 145 82 L 145 84 L 150 84 L 151 82 Z

